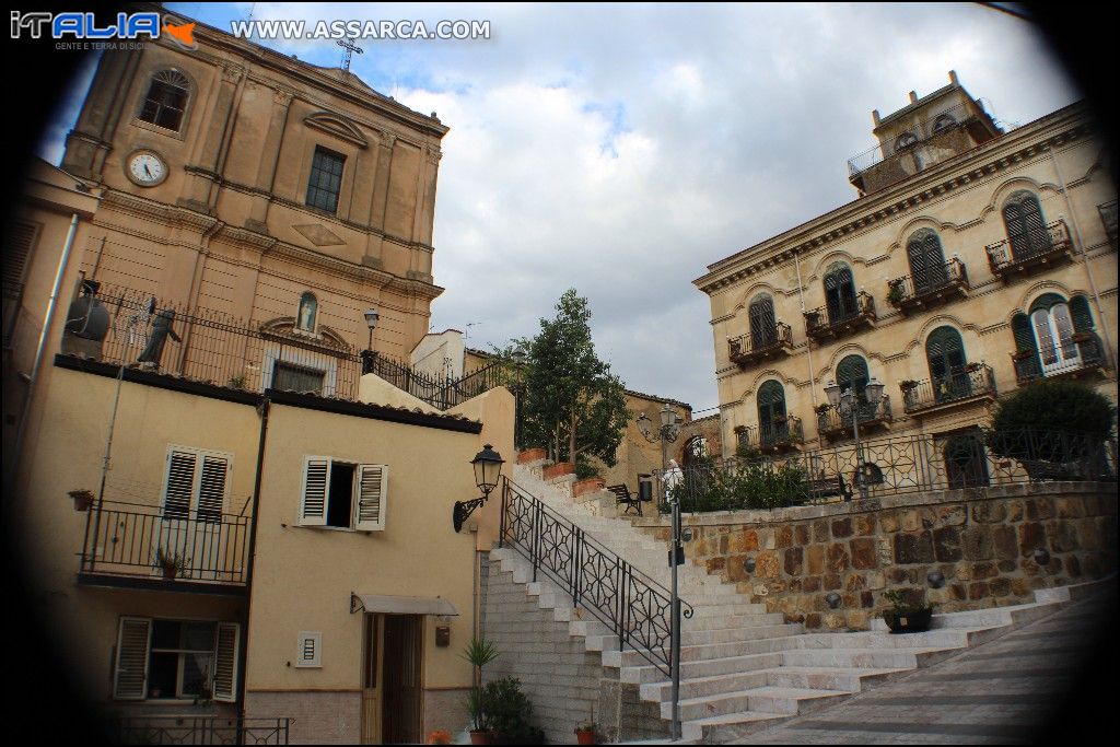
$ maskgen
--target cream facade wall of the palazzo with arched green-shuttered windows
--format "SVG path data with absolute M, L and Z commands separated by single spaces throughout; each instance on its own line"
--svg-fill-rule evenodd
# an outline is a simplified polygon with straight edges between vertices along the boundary
M 1038 147 L 1043 142 L 1051 144 Z M 861 435 L 942 432 L 986 422 L 986 401 L 908 415 L 898 382 L 930 377 L 926 339 L 949 326 L 960 333 L 969 362 L 991 366 L 1000 394 L 1016 390 L 1011 318 L 1046 292 L 1085 296 L 1096 334 L 1105 346 L 1116 345 L 1117 253 L 1096 209 L 1117 194 L 1101 167 L 1104 152 L 1085 111 L 1062 110 L 711 265 L 696 283 L 711 300 L 725 456 L 734 451 L 736 427 L 757 426 L 756 393 L 769 380 L 783 385 L 787 412 L 801 418 L 812 443 L 813 407 L 827 401 L 823 387 L 848 355 L 864 357 L 870 375 L 886 383 L 894 415 L 887 428 Z M 1000 211 L 1019 189 L 1038 197 L 1047 223 L 1065 222 L 1075 252 L 1004 279 L 993 274 L 984 248 L 1007 239 Z M 903 314 L 887 301 L 887 281 L 911 274 L 906 242 L 920 228 L 937 233 L 946 260 L 960 256 L 969 290 L 965 298 Z M 824 306 L 823 277 L 838 261 L 851 268 L 857 290 L 874 298 L 877 320 L 871 329 L 810 344 L 802 310 Z M 743 370 L 730 362 L 727 340 L 749 332 L 747 306 L 759 292 L 773 297 L 777 319 L 791 326 L 793 351 Z M 1116 401 L 1111 363 L 1089 372 L 1086 381 Z

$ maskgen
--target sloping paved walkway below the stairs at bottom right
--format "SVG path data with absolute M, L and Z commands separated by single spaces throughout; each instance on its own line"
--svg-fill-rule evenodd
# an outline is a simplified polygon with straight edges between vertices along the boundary
M 1114 732 L 1116 590 L 747 744 L 1098 741 Z M 1099 676 L 1094 676 L 1099 673 Z

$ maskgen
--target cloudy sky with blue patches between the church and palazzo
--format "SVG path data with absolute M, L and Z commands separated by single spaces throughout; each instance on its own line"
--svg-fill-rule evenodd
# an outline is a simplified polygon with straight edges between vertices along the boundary
M 717 404 L 706 267 L 856 197 L 883 114 L 961 84 L 1005 127 L 1079 93 L 1030 25 L 967 4 L 168 3 L 231 19 L 488 20 L 491 38 L 360 43 L 352 69 L 451 128 L 436 209 L 436 330 L 487 349 L 567 288 L 631 389 Z M 317 65 L 330 40 L 263 40 Z M 47 133 L 58 162 L 86 76 Z

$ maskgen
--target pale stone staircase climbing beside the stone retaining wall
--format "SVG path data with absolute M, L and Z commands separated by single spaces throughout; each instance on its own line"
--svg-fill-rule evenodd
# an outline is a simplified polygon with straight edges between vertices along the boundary
M 614 495 L 603 491 L 571 496 L 571 480 L 541 479 L 543 463 L 517 465 L 513 479 L 586 533 L 651 578 L 670 586 L 668 545 L 618 517 Z M 601 652 L 603 665 L 619 671 L 619 680 L 637 685 L 640 698 L 672 718 L 671 683 L 665 674 L 633 650 L 619 650 L 618 638 L 598 620 L 571 607 L 570 597 L 550 580 L 531 582 L 529 561 L 511 548 L 495 548 L 492 562 L 569 633 L 585 638 L 587 651 Z M 1082 585 L 1093 586 L 1093 585 Z M 926 633 L 892 635 L 881 619 L 864 633 L 805 633 L 781 613 L 752 604 L 734 585 L 685 563 L 679 568 L 681 598 L 696 610 L 681 634 L 680 706 L 682 737 L 712 741 L 743 737 L 781 721 L 828 708 L 886 679 L 953 656 L 968 646 L 992 639 L 1045 617 L 1070 600 L 1070 590 L 1036 592 L 1038 601 L 978 611 L 935 615 Z

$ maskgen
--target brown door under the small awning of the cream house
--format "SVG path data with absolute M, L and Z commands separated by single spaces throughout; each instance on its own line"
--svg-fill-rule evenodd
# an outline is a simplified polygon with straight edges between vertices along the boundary
M 419 744 L 423 617 L 385 615 L 382 744 Z

